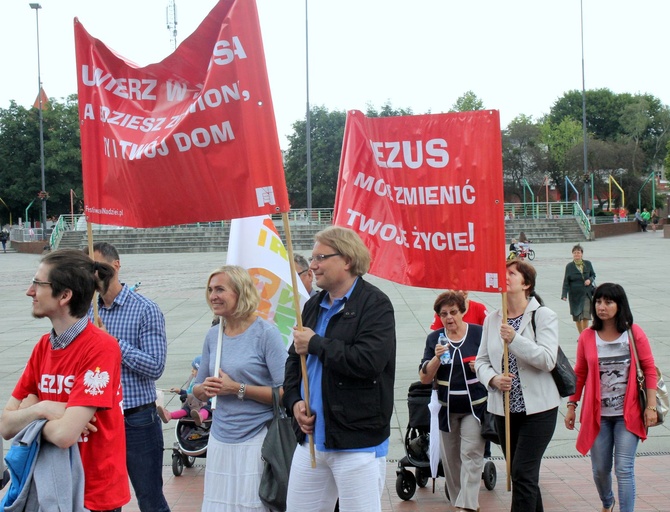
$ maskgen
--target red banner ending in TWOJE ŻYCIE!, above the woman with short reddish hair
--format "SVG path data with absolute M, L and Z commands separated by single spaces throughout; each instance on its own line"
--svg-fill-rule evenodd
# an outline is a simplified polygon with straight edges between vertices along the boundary
M 359 232 L 371 274 L 504 292 L 501 148 L 495 110 L 383 118 L 350 111 L 335 224 Z

